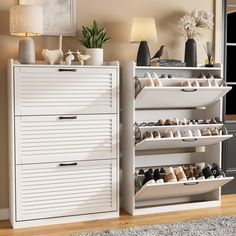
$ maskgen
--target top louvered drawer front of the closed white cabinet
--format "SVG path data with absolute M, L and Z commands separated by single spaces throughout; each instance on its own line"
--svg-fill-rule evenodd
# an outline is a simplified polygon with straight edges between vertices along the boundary
M 117 70 L 15 68 L 15 114 L 117 112 Z

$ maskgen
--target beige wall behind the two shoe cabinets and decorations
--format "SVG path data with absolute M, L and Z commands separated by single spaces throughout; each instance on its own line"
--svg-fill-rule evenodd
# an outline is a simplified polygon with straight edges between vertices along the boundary
M 9 36 L 9 8 L 17 0 L 0 1 L 0 209 L 8 207 L 8 163 L 7 163 L 7 94 L 6 63 L 9 58 L 17 57 L 18 38 Z M 111 43 L 105 48 L 105 60 L 119 60 L 121 64 L 135 60 L 137 44 L 129 43 L 132 17 L 153 16 L 156 18 L 158 42 L 150 45 L 151 54 L 161 44 L 166 45 L 165 58 L 182 59 L 184 55 L 183 37 L 176 34 L 178 19 L 195 8 L 208 9 L 213 12 L 214 0 L 76 0 L 77 29 L 96 19 L 106 26 Z M 212 31 L 204 31 L 205 39 L 213 40 Z M 37 56 L 43 48 L 53 49 L 57 46 L 56 37 L 39 37 L 35 39 Z M 198 42 L 198 63 L 204 63 L 203 42 Z M 81 48 L 76 38 L 64 38 L 63 50 Z M 163 58 L 164 58 L 163 57 Z

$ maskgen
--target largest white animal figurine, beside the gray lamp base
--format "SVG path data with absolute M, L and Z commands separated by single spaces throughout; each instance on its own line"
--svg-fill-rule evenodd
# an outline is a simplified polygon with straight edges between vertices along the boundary
M 62 52 L 62 35 L 59 36 L 59 48 L 55 50 L 43 49 L 42 51 L 43 59 L 53 65 L 55 63 L 62 64 L 63 52 Z

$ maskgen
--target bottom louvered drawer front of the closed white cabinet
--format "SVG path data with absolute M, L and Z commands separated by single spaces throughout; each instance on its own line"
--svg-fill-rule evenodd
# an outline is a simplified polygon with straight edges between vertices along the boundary
M 116 160 L 18 165 L 17 221 L 115 211 L 115 166 Z

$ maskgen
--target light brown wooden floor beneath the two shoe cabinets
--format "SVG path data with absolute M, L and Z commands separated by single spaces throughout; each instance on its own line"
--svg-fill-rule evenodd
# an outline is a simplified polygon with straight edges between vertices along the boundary
M 0 221 L 0 236 L 70 236 L 81 232 L 174 223 L 177 221 L 230 215 L 236 215 L 236 194 L 222 196 L 221 207 L 208 208 L 204 210 L 180 211 L 172 214 L 165 213 L 133 217 L 125 212 L 121 212 L 119 219 L 79 222 L 18 230 L 12 230 L 9 221 Z

